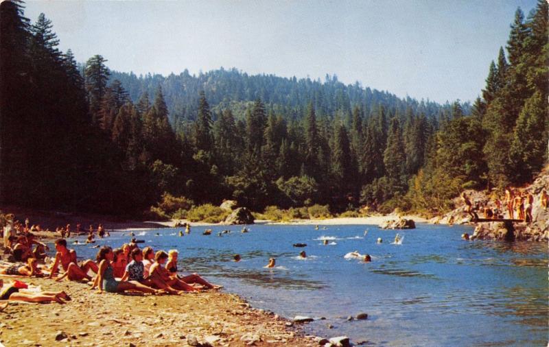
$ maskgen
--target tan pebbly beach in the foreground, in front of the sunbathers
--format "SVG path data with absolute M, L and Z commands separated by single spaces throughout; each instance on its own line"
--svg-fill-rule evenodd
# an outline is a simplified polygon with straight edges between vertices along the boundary
M 201 346 L 317 345 L 303 337 L 299 326 L 250 308 L 233 294 L 97 294 L 85 283 L 0 278 L 23 280 L 48 291 L 65 290 L 72 297 L 67 304 L 9 302 L 0 312 L 0 345 L 200 346 L 196 341 Z

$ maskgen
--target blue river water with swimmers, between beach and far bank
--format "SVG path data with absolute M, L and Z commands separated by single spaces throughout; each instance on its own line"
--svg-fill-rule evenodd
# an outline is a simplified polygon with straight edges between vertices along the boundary
M 469 227 L 419 224 L 399 231 L 376 226 L 254 225 L 136 231 L 154 250 L 176 248 L 179 269 L 200 272 L 254 307 L 292 318 L 326 318 L 308 333 L 348 335 L 366 346 L 546 346 L 548 343 L 548 248 L 535 243 L 460 240 Z M 325 228 L 325 230 L 323 230 Z M 218 232 L 231 230 L 218 237 Z M 368 230 L 364 236 L 364 230 Z M 159 235 L 156 235 L 159 233 Z M 377 237 L 383 243 L 377 244 Z M 83 239 L 83 237 L 80 237 Z M 329 245 L 323 245 L 328 239 Z M 114 233 L 97 244 L 120 246 Z M 294 248 L 293 243 L 307 243 Z M 97 249 L 73 246 L 79 257 Z M 307 259 L 299 259 L 301 250 Z M 358 250 L 372 263 L 345 259 Z M 242 261 L 232 261 L 233 254 Z M 277 267 L 265 269 L 270 257 Z M 368 320 L 347 322 L 368 313 Z M 329 329 L 331 324 L 334 328 Z

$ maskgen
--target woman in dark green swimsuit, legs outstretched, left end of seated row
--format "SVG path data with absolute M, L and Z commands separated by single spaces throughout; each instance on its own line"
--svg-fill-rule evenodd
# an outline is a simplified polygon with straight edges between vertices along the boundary
M 97 252 L 97 263 L 99 263 L 99 270 L 91 289 L 97 288 L 97 292 L 102 294 L 103 291 L 108 293 L 120 293 L 127 290 L 136 290 L 148 294 L 165 294 L 164 290 L 152 289 L 146 285 L 135 282 L 127 282 L 124 280 L 116 280 L 113 275 L 113 267 L 110 265 L 114 259 L 115 254 L 113 249 L 108 246 L 103 246 L 99 252 Z

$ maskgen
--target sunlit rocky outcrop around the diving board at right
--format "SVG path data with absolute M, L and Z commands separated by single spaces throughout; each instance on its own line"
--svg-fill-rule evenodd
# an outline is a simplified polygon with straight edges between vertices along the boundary
M 495 239 L 506 241 L 549 241 L 549 208 L 544 210 L 541 207 L 539 193 L 542 189 L 549 191 L 549 166 L 539 173 L 534 182 L 527 187 L 519 187 L 521 191 L 526 191 L 534 195 L 534 204 L 532 208 L 532 223 L 526 222 L 471 222 L 471 217 L 465 212 L 465 205 L 460 198 L 454 200 L 454 211 L 445 215 L 434 217 L 428 222 L 432 224 L 471 224 L 476 226 L 474 235 L 471 239 Z M 476 202 L 486 204 L 490 208 L 495 208 L 495 202 L 490 199 L 486 191 L 466 191 L 467 196 L 473 204 Z M 482 213 L 477 211 L 479 217 Z M 506 217 L 506 213 L 504 213 Z

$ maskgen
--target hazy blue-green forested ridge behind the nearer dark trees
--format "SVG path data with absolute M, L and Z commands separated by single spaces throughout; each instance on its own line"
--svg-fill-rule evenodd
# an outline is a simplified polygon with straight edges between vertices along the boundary
M 81 69 L 84 71 L 84 65 Z M 205 92 L 214 120 L 216 114 L 225 109 L 230 109 L 236 119 L 244 119 L 246 108 L 257 99 L 265 104 L 267 110 L 290 119 L 303 118 L 309 103 L 312 103 L 318 118 L 334 117 L 338 112 L 342 117 L 351 117 L 354 106 L 359 106 L 364 117 L 369 117 L 378 105 L 383 105 L 389 117 L 398 114 L 403 120 L 407 108 L 428 118 L 444 117 L 443 111 L 449 114 L 452 110 L 448 102 L 441 106 L 429 100 L 399 99 L 387 91 L 362 88 L 358 82 L 345 85 L 336 75 L 326 75 L 325 81 L 321 82 L 320 79 L 248 75 L 234 68 L 198 75 L 190 75 L 185 70 L 167 77 L 151 74 L 138 77 L 134 73 L 110 71 L 109 81 L 114 80 L 121 82 L 133 102 L 137 102 L 144 92 L 154 95 L 161 86 L 173 124 L 196 120 L 201 91 Z M 460 106 L 465 115 L 470 114 L 468 102 Z

